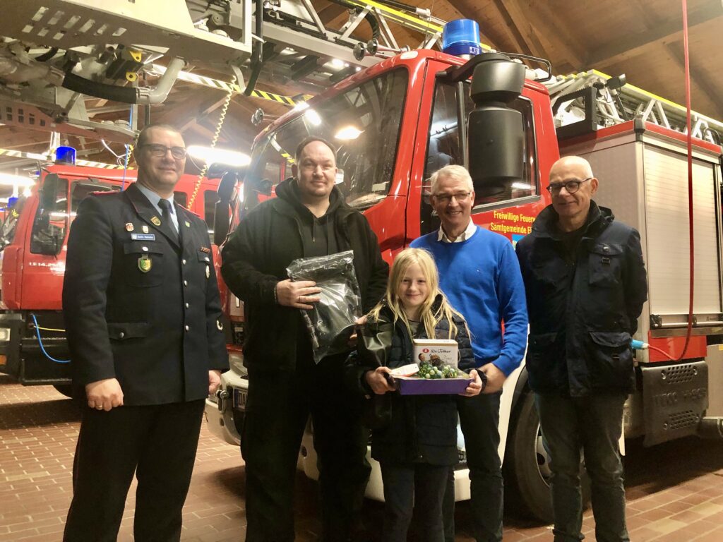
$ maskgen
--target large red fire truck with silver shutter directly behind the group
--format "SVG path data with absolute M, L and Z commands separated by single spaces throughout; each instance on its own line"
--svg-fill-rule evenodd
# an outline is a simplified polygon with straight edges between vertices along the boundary
M 644 435 L 646 444 L 690 434 L 721 436 L 721 147 L 694 142 L 695 279 L 700 286 L 696 326 L 685 358 L 671 361 L 685 342 L 688 313 L 683 135 L 639 119 L 609 123 L 592 103 L 578 107 L 585 112 L 575 122 L 559 126 L 548 88 L 524 73 L 520 64 L 495 53 L 466 62 L 425 50 L 407 51 L 359 72 L 257 137 L 243 197 L 231 202 L 234 224 L 260 195 L 270 194 L 290 175 L 291 154 L 308 134 L 338 145 L 338 187 L 346 202 L 367 216 L 388 261 L 414 238 L 439 226 L 425 179 L 443 165 L 469 166 L 476 193 L 474 222 L 515 243 L 531 231 L 534 218 L 550 202 L 545 186 L 552 163 L 561 153 L 585 155 L 601 180 L 596 200 L 641 232 L 651 288 L 636 338 L 662 351 L 637 352 L 638 392 L 626 405 L 625 435 Z M 580 95 L 567 98 L 578 100 Z M 555 111 L 565 99 L 555 97 Z M 238 442 L 247 389 L 243 307 L 234 296 L 227 306 L 234 326 L 232 369 L 223 375 L 218 397 L 208 401 L 206 416 L 220 436 Z M 549 466 L 524 366 L 505 384 L 500 434 L 506 486 L 516 490 L 533 515 L 549 520 Z M 460 448 L 458 500 L 469 498 L 462 439 Z M 299 467 L 316 476 L 308 431 Z M 378 470 L 367 494 L 381 498 Z

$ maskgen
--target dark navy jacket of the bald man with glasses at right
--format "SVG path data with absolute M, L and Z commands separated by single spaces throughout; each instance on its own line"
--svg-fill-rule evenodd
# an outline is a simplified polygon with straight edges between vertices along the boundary
M 568 256 L 549 205 L 517 244 L 530 319 L 530 386 L 573 397 L 631 392 L 630 335 L 648 292 L 640 235 L 595 202 L 583 228 Z

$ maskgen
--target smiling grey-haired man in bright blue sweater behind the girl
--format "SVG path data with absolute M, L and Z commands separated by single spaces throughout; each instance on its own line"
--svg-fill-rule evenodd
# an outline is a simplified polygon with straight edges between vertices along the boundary
M 432 253 L 440 286 L 467 320 L 476 367 L 487 385 L 476 397 L 458 397 L 471 481 L 474 538 L 502 540 L 502 463 L 497 453 L 502 384 L 522 361 L 527 340 L 525 290 L 508 239 L 471 220 L 474 186 L 461 165 L 432 175 L 432 206 L 442 226 L 412 241 Z M 502 333 L 502 322 L 505 332 Z M 445 540 L 454 540 L 453 473 L 445 496 Z

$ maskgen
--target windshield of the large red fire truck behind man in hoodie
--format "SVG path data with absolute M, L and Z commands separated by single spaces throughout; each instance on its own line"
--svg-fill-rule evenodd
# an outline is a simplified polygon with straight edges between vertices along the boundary
M 304 137 L 333 142 L 337 186 L 352 207 L 364 209 L 389 192 L 406 96 L 406 69 L 380 74 L 322 101 L 270 132 L 254 147 L 244 186 L 246 207 L 291 176 L 294 152 Z

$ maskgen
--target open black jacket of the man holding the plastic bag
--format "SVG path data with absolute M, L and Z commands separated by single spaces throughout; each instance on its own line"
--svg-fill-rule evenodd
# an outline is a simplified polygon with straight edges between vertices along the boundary
M 249 370 L 293 369 L 297 334 L 304 332 L 301 311 L 281 306 L 275 298 L 276 284 L 288 278 L 288 264 L 305 256 L 305 225 L 292 182 L 283 181 L 276 187 L 278 197 L 254 207 L 223 247 L 223 280 L 244 301 L 244 364 Z M 326 221 L 328 234 L 335 236 L 339 251 L 354 251 L 354 270 L 366 312 L 384 295 L 389 266 L 364 215 L 346 205 L 338 189 L 333 189 L 331 197 L 335 210 Z

